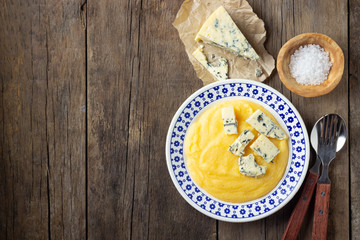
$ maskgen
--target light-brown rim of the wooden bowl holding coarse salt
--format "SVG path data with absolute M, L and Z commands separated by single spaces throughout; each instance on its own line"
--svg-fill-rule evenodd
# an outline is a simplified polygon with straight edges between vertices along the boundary
M 296 42 L 299 39 L 307 39 L 310 37 L 318 37 L 318 38 L 322 38 L 325 41 L 329 42 L 329 44 L 334 45 L 335 48 L 334 49 L 339 49 L 341 52 L 341 56 L 339 59 L 339 65 L 340 68 L 338 69 L 338 72 L 340 74 L 338 74 L 332 81 L 331 83 L 326 87 L 326 88 L 322 88 L 322 92 L 320 92 L 320 94 L 316 93 L 316 92 L 312 92 L 312 91 L 305 91 L 305 86 L 306 85 L 302 85 L 299 84 L 294 78 L 293 80 L 289 80 L 285 74 L 284 74 L 284 69 L 283 69 L 283 61 L 282 59 L 284 58 L 285 53 L 288 51 L 289 47 L 293 45 L 294 42 Z M 323 48 L 323 46 L 321 46 Z M 328 93 L 330 93 L 332 90 L 334 90 L 336 88 L 336 86 L 340 83 L 343 73 L 344 73 L 344 68 L 345 68 L 345 59 L 344 59 L 344 52 L 342 51 L 341 47 L 329 36 L 322 34 L 322 33 L 302 33 L 299 35 L 296 35 L 294 37 L 292 37 L 291 39 L 289 39 L 279 50 L 278 56 L 277 56 L 277 61 L 276 61 L 276 68 L 280 77 L 281 82 L 293 93 L 302 96 L 302 97 L 319 97 L 319 96 L 323 96 L 326 95 Z M 331 71 L 331 69 L 330 69 Z M 294 88 L 292 87 L 292 85 L 290 84 L 290 82 L 294 82 L 297 86 L 300 86 L 300 88 Z M 308 86 L 306 86 L 308 87 Z M 322 84 L 320 85 L 311 85 L 312 88 L 318 88 L 320 89 L 322 86 Z

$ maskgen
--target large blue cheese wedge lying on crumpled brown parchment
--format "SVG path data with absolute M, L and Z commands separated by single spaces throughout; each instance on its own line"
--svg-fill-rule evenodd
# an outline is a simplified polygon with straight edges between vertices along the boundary
M 223 6 L 209 16 L 195 40 L 221 47 L 245 59 L 260 59 Z

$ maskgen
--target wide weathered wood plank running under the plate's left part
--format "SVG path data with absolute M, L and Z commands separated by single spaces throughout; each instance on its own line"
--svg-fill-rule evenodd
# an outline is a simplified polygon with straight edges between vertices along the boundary
M 90 239 L 216 237 L 215 220 L 181 199 L 165 164 L 166 126 L 201 86 L 171 25 L 178 8 L 88 3 Z

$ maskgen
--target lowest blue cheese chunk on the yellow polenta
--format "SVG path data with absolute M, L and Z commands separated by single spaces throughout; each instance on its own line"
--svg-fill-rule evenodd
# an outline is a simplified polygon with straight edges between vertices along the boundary
M 259 178 L 265 175 L 266 167 L 258 165 L 254 155 L 249 154 L 239 158 L 239 171 L 244 176 Z

